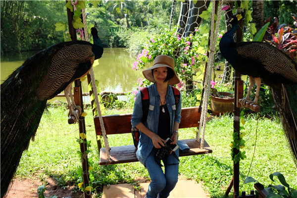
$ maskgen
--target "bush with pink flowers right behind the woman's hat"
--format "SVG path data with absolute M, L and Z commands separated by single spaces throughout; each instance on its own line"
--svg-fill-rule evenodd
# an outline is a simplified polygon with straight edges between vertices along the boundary
M 189 37 L 180 37 L 176 31 L 177 27 L 171 31 L 169 29 L 162 29 L 160 34 L 154 38 L 148 38 L 147 43 L 143 47 L 143 50 L 137 56 L 137 60 L 133 64 L 133 69 L 139 70 L 146 66 L 146 63 L 150 63 L 157 55 L 165 54 L 171 57 L 176 54 L 176 50 L 179 49 L 180 53 L 178 57 L 173 57 L 175 60 L 175 72 L 181 79 L 181 82 L 177 85 L 179 89 L 182 89 L 184 82 L 192 80 L 195 75 L 202 75 L 203 65 L 200 64 L 207 59 L 207 35 L 204 35 L 196 29 L 196 34 L 191 34 Z M 185 63 L 184 63 L 185 62 Z M 201 68 L 200 68 L 201 67 Z

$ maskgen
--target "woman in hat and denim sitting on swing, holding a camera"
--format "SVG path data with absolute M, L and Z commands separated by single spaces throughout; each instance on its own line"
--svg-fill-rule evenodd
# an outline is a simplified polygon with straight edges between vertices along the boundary
M 156 157 L 158 149 L 164 147 L 165 140 L 170 138 L 174 145 L 178 140 L 178 128 L 181 120 L 181 99 L 175 105 L 174 94 L 170 85 L 180 82 L 174 72 L 174 59 L 167 55 L 158 55 L 153 66 L 144 70 L 143 75 L 153 85 L 148 86 L 148 118 L 142 122 L 143 107 L 141 93 L 138 92 L 134 104 L 131 123 L 140 131 L 136 152 L 138 160 L 148 169 L 151 183 L 146 198 L 167 198 L 178 180 L 179 151 L 173 151 L 162 158 Z

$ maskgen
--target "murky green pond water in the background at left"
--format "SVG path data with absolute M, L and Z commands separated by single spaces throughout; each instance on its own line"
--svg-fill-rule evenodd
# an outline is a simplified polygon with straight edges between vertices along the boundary
M 1 55 L 1 83 L 23 62 L 38 51 L 9 53 Z M 136 57 L 131 57 L 124 48 L 105 48 L 102 57 L 94 63 L 95 79 L 98 88 L 109 92 L 132 92 L 137 79 L 143 77 L 141 71 L 133 70 Z M 97 63 L 97 64 L 96 64 Z M 83 82 L 83 92 L 88 92 L 87 81 Z M 63 92 L 62 92 L 63 93 Z

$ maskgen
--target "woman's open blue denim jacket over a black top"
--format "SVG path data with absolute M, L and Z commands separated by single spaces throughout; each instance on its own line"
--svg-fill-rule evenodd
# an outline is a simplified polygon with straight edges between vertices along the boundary
M 160 96 L 157 91 L 156 83 L 148 86 L 149 93 L 149 108 L 148 108 L 148 118 L 145 123 L 143 123 L 150 131 L 155 134 L 158 133 L 159 124 L 159 113 L 160 113 Z M 172 135 L 173 123 L 181 121 L 181 111 L 182 111 L 182 98 L 180 97 L 179 103 L 175 106 L 175 99 L 170 85 L 167 88 L 166 104 L 170 115 L 170 131 Z M 141 93 L 138 92 L 136 95 L 134 110 L 132 113 L 131 124 L 133 127 L 142 122 L 143 117 L 143 107 Z M 140 139 L 138 143 L 138 149 L 136 151 L 136 156 L 138 160 L 145 165 L 146 159 L 153 148 L 152 140 L 144 133 L 140 131 Z M 171 136 L 170 135 L 170 136 Z M 178 155 L 178 149 L 175 151 Z

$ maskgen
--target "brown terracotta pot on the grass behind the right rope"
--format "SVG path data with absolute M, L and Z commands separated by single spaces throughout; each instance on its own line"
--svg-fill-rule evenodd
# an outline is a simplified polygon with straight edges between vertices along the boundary
M 210 109 L 214 115 L 223 115 L 227 112 L 233 112 L 234 110 L 234 98 L 233 97 L 226 97 L 230 96 L 231 93 L 228 92 L 219 92 L 223 98 L 215 97 L 210 94 Z

